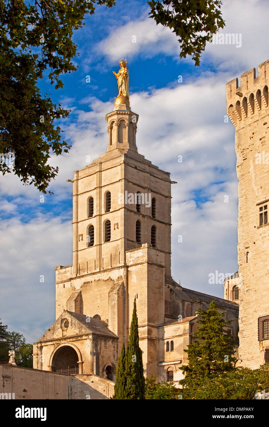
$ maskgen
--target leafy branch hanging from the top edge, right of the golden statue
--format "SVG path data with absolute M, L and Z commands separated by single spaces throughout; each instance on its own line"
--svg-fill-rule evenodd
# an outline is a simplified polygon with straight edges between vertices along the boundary
M 181 44 L 180 58 L 190 55 L 195 65 L 200 64 L 200 56 L 207 41 L 225 25 L 219 0 L 152 0 L 150 17 L 157 25 L 161 23 L 173 29 Z

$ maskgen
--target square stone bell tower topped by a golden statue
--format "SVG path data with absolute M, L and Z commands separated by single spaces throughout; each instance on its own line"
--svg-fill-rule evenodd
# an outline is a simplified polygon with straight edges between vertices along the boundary
M 113 111 L 106 115 L 107 151 L 74 172 L 73 264 L 56 267 L 58 320 L 49 334 L 51 339 L 51 331 L 60 325 L 61 339 L 71 345 L 68 331 L 72 327 L 74 334 L 80 319 L 91 333 L 90 350 L 79 339 L 76 344 L 81 352 L 80 370 L 101 375 L 106 365 L 115 368 L 121 346 L 127 344 L 136 298 L 143 365 L 145 374 L 151 375 L 158 374 L 165 277 L 171 274 L 171 181 L 169 173 L 137 152 L 138 114 L 129 105 L 125 61 L 120 61 L 120 70 L 114 74 L 119 95 Z M 104 324 L 108 328 L 112 341 L 105 341 L 105 347 L 88 318 L 101 322 L 100 331 Z M 48 339 L 46 335 L 47 343 Z M 38 345 L 43 345 L 42 340 Z M 50 369 L 58 363 L 53 345 L 53 341 L 51 348 L 46 344 L 43 364 Z M 88 360 L 87 351 L 95 359 Z

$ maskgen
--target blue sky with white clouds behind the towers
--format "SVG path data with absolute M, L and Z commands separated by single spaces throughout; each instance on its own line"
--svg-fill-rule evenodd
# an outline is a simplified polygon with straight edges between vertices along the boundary
M 242 34 L 242 47 L 208 45 L 200 67 L 179 58 L 175 35 L 148 18 L 145 1 L 118 0 L 112 9 L 96 7 L 74 33 L 79 69 L 63 76 L 64 88 L 55 91 L 42 80 L 41 91 L 72 110 L 61 120 L 72 148 L 51 157 L 59 174 L 50 185 L 54 195 L 45 195 L 44 203 L 17 177 L 0 178 L 0 317 L 9 330 L 33 342 L 55 320 L 54 269 L 72 262 L 72 189 L 66 179 L 85 167 L 87 156 L 93 161 L 106 150 L 105 114 L 117 96 L 112 71 L 118 71 L 120 58 L 128 58 L 130 105 L 139 114 L 138 151 L 178 182 L 172 186 L 173 278 L 223 297 L 222 285 L 208 284 L 208 275 L 238 269 L 238 181 L 234 126 L 224 121 L 225 84 L 268 59 L 269 12 L 266 1 L 224 3 L 221 32 Z

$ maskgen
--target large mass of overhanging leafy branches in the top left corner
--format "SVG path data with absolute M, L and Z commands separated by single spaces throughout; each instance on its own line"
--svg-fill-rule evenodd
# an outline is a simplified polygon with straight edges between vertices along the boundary
M 5 174 L 14 171 L 23 183 L 46 193 L 58 167 L 47 164 L 50 153 L 70 148 L 61 141 L 54 120 L 69 111 L 40 94 L 38 79 L 48 74 L 55 89 L 62 88 L 62 73 L 77 67 L 73 31 L 94 6 L 113 6 L 114 0 L 0 0 L 0 152 L 12 152 L 15 161 L 0 163 Z M 47 74 L 46 74 L 47 75 Z M 12 157 L 13 160 L 13 157 Z

